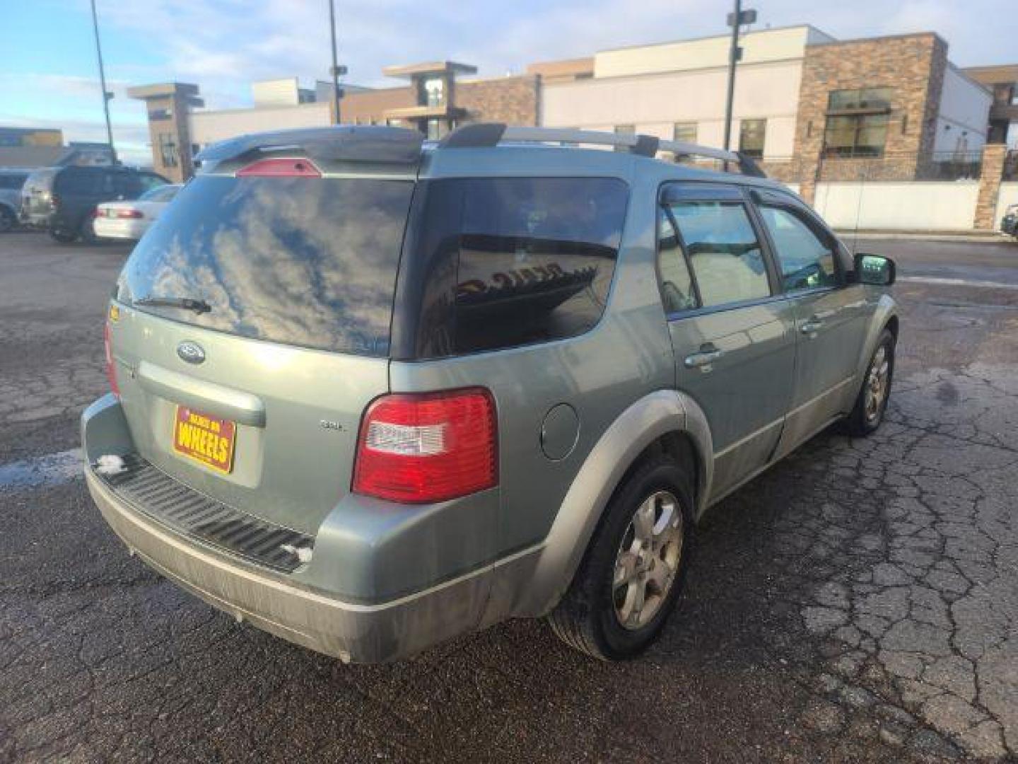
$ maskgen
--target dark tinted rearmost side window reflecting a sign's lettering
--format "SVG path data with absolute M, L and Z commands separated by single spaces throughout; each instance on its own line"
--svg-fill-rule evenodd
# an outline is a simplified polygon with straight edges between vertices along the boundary
M 628 189 L 610 178 L 466 185 L 454 351 L 570 337 L 605 310 Z

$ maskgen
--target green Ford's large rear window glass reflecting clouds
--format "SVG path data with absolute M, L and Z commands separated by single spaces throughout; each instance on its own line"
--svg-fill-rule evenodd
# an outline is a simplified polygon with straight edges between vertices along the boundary
M 405 180 L 200 176 L 138 242 L 116 297 L 201 299 L 206 313 L 138 309 L 244 337 L 385 356 L 412 193 Z

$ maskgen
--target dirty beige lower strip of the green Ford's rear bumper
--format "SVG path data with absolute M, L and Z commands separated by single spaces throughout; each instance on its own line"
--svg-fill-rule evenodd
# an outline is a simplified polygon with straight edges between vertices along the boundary
M 344 602 L 204 549 L 127 506 L 86 467 L 89 491 L 146 563 L 214 607 L 344 661 L 394 660 L 476 627 L 495 568 L 392 602 Z

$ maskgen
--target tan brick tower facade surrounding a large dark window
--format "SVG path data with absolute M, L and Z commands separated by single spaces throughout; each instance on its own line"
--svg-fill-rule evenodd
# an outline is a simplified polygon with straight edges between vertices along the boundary
M 934 145 L 947 43 L 932 33 L 810 45 L 802 68 L 795 156 L 802 169 L 803 196 L 812 199 L 817 179 L 857 180 L 858 163 L 871 178 L 909 180 L 919 158 Z M 832 91 L 892 88 L 885 157 L 822 158 Z M 807 196 L 808 195 L 808 196 Z

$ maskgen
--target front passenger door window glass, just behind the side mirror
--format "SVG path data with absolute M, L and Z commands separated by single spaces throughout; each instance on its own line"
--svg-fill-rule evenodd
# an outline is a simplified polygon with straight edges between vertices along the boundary
M 834 250 L 801 217 L 784 207 L 759 206 L 777 250 L 785 291 L 838 286 Z

